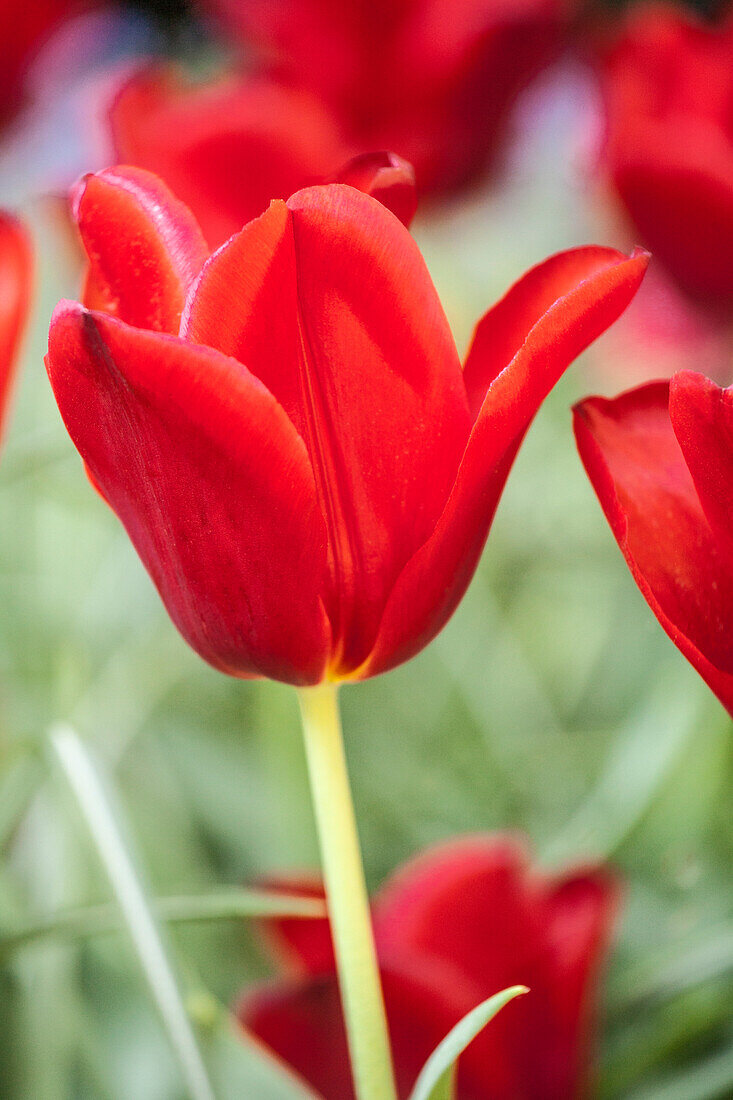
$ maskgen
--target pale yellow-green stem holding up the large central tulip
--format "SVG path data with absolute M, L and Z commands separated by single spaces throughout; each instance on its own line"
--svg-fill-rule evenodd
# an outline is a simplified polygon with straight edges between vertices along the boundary
M 337 688 L 298 697 L 354 1089 L 358 1100 L 396 1100 Z

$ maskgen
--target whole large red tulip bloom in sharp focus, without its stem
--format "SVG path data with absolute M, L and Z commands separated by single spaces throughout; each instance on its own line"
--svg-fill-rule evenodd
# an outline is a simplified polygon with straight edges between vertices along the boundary
M 440 630 L 538 406 L 647 262 L 546 261 L 461 372 L 415 241 L 352 187 L 274 201 L 210 257 L 140 169 L 88 177 L 75 213 L 85 305 L 57 308 L 47 358 L 72 439 L 194 649 L 294 684 Z

